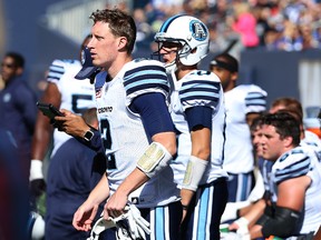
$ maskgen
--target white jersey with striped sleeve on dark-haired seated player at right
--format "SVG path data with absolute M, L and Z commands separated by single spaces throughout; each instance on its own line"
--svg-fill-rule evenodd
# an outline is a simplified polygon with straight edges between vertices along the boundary
M 278 184 L 291 178 L 308 176 L 311 184 L 305 191 L 301 234 L 317 231 L 321 222 L 321 166 L 309 147 L 296 147 L 282 154 L 273 164 L 270 181 L 272 202 L 278 201 Z

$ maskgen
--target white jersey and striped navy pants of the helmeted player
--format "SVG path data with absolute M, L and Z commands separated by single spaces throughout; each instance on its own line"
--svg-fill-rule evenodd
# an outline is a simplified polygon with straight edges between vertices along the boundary
M 172 162 L 175 180 L 182 184 L 192 154 L 186 111 L 195 107 L 212 109 L 211 156 L 207 168 L 189 204 L 191 216 L 183 227 L 183 239 L 213 239 L 227 200 L 227 173 L 223 166 L 225 111 L 220 79 L 212 72 L 194 70 L 173 82 L 171 116 L 177 131 L 177 158 Z M 200 122 L 202 123 L 202 122 Z M 192 208 L 193 207 L 193 208 Z M 218 220 L 218 221 L 217 221 Z M 215 237 L 214 237 L 215 239 Z

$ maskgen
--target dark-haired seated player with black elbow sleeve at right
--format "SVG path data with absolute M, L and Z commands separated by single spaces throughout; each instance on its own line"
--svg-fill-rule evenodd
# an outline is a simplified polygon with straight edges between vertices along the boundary
M 262 117 L 262 156 L 274 161 L 264 214 L 251 238 L 301 236 L 309 239 L 321 221 L 321 167 L 308 146 L 300 146 L 300 123 L 288 112 Z

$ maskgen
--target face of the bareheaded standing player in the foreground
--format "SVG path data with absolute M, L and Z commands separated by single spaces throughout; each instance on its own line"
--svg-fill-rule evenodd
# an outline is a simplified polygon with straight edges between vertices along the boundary
M 91 28 L 93 38 L 88 42 L 93 64 L 108 70 L 119 53 L 120 38 L 115 37 L 109 23 L 96 22 Z

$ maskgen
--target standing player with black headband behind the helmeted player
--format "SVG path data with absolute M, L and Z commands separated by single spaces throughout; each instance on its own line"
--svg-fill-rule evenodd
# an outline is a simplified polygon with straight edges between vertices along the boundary
M 247 199 L 254 183 L 255 166 L 250 126 L 266 110 L 266 92 L 255 84 L 236 84 L 239 62 L 228 53 L 221 53 L 210 69 L 218 76 L 226 110 L 224 169 L 228 172 L 228 202 Z

